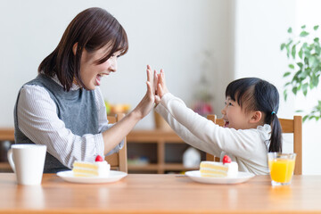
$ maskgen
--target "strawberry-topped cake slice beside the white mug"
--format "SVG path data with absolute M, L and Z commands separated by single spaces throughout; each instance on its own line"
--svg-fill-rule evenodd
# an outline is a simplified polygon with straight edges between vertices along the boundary
M 97 155 L 95 162 L 75 161 L 72 172 L 74 177 L 108 177 L 111 165 Z

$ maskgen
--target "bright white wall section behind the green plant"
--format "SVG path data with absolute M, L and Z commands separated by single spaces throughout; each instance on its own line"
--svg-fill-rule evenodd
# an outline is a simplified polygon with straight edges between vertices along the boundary
M 283 74 L 288 70 L 286 53 L 280 51 L 287 41 L 287 29 L 303 23 L 314 26 L 321 17 L 317 1 L 303 0 L 242 0 L 235 7 L 235 78 L 256 76 L 273 83 L 279 90 L 280 110 L 278 117 L 291 118 L 295 111 L 311 106 L 309 99 L 289 95 L 284 102 Z M 307 18 L 310 17 L 309 19 Z M 317 17 L 318 16 L 318 17 Z M 303 20 L 304 19 L 304 20 Z M 316 103 L 313 103 L 313 105 Z M 318 152 L 321 150 L 320 122 L 303 124 L 303 174 L 321 174 Z M 292 136 L 285 136 L 284 151 L 291 152 Z

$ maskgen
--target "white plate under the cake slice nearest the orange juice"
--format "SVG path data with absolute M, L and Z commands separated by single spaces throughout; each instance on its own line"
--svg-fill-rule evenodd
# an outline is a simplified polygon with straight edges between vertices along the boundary
M 220 185 L 240 184 L 254 177 L 250 172 L 238 172 L 237 177 L 201 177 L 199 170 L 187 171 L 185 175 L 196 182 Z

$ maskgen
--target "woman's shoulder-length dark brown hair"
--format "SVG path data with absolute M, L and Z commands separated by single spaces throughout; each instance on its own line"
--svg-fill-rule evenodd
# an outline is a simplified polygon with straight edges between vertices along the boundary
M 76 43 L 74 54 L 72 48 Z M 126 31 L 109 12 L 97 7 L 88 8 L 70 22 L 53 53 L 40 63 L 38 73 L 44 72 L 49 77 L 56 74 L 67 91 L 74 79 L 86 88 L 80 77 L 82 52 L 85 48 L 88 53 L 93 53 L 105 45 L 110 45 L 110 51 L 97 64 L 106 62 L 115 52 L 121 51 L 120 55 L 128 52 Z

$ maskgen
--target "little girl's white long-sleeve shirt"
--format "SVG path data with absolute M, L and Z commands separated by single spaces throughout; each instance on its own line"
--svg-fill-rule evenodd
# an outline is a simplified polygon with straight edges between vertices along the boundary
M 222 128 L 186 107 L 181 99 L 170 93 L 161 98 L 155 111 L 185 143 L 218 157 L 227 153 L 238 163 L 240 171 L 268 174 L 271 132 L 268 124 L 251 129 Z

